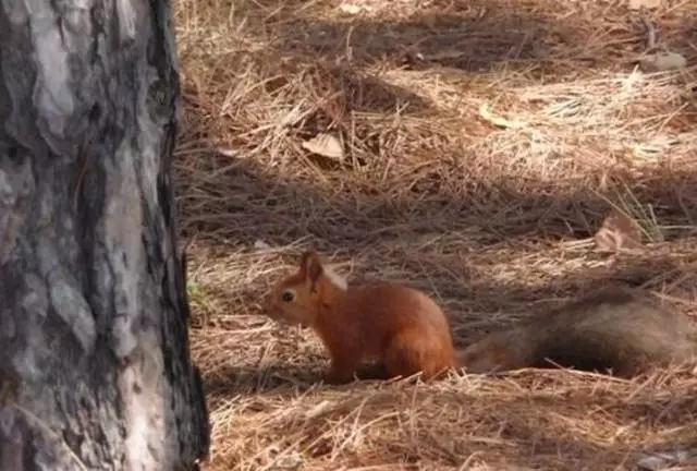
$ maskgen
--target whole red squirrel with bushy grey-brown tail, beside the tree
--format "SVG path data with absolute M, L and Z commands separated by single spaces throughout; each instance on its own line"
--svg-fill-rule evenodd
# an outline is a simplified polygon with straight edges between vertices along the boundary
M 634 376 L 697 355 L 688 317 L 628 288 L 613 288 L 493 331 L 456 351 L 443 311 L 421 291 L 392 282 L 348 286 L 316 252 L 272 292 L 267 315 L 311 327 L 331 357 L 329 383 L 376 358 L 388 377 L 451 369 L 493 373 L 571 367 Z

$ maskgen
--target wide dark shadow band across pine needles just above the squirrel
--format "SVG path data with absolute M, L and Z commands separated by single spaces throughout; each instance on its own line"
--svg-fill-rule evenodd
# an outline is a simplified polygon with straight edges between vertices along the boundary
M 252 159 L 215 152 L 200 155 L 195 166 L 179 172 L 180 229 L 184 237 L 204 234 L 220 241 L 234 232 L 235 242 L 285 245 L 309 235 L 320 250 L 355 252 L 390 240 L 416 242 L 424 234 L 451 233 L 476 241 L 480 249 L 523 238 L 585 239 L 597 231 L 610 207 L 607 196 L 588 188 L 560 194 L 554 183 L 528 182 L 521 193 L 514 178 L 476 181 L 464 168 L 452 168 L 445 181 L 442 173 L 448 170 L 441 164 L 432 171 L 425 165 L 414 174 L 364 188 L 359 180 L 353 188 L 314 185 L 307 178 L 284 181 Z M 616 177 L 619 185 L 627 185 L 624 196 L 634 195 L 652 207 L 656 218 L 671 221 L 665 240 L 695 233 L 694 172 L 655 170 L 641 176 L 636 186 L 622 173 L 604 178 Z M 411 181 L 406 194 L 388 194 L 405 180 Z M 458 192 L 445 184 L 458 186 Z

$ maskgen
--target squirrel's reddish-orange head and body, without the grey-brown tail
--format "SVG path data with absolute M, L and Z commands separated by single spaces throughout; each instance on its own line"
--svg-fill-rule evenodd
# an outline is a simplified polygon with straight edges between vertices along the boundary
M 283 299 L 292 291 L 292 301 Z M 342 289 L 315 252 L 276 287 L 268 315 L 311 327 L 331 357 L 328 381 L 350 381 L 362 360 L 381 361 L 388 376 L 428 381 L 456 365 L 448 319 L 425 293 L 379 282 Z

